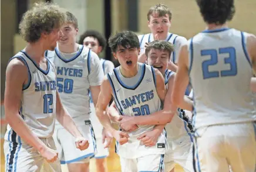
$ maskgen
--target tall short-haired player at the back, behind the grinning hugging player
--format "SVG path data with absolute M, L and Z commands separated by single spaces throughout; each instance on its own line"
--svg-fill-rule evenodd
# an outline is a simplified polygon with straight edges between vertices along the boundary
M 139 35 L 140 41 L 140 56 L 139 62 L 145 63 L 145 49 L 148 43 L 153 40 L 166 40 L 167 42 L 174 44 L 174 51 L 171 53 L 170 62 L 168 68 L 172 71 L 177 70 L 177 57 L 180 52 L 180 47 L 186 44 L 187 39 L 183 36 L 170 33 L 171 27 L 171 10 L 163 4 L 157 4 L 152 6 L 147 12 L 147 23 L 151 33 L 146 35 Z M 174 64 L 173 64 L 174 63 Z

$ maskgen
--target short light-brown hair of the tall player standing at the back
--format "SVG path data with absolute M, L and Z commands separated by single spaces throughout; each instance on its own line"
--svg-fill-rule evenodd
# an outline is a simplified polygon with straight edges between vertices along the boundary
M 171 20 L 171 16 L 172 16 L 171 10 L 166 5 L 157 4 L 157 5 L 151 6 L 149 11 L 147 12 L 147 20 L 150 20 L 150 16 L 153 13 L 157 13 L 159 17 L 162 17 L 167 14 L 169 15 L 169 20 Z

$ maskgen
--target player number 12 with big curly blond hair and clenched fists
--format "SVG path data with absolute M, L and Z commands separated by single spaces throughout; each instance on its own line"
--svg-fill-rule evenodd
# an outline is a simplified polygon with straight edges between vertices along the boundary
M 28 44 L 6 68 L 6 171 L 40 171 L 42 166 L 45 171 L 61 171 L 52 138 L 55 119 L 76 138 L 73 147 L 89 146 L 60 101 L 55 67 L 43 56 L 45 50 L 55 49 L 64 18 L 57 5 L 41 3 L 27 11 L 19 24 Z

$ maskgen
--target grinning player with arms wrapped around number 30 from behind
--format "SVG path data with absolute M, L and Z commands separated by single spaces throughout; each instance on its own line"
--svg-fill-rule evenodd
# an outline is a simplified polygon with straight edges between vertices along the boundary
M 171 91 L 173 88 L 174 76 L 173 71 L 167 69 L 170 54 L 173 52 L 173 45 L 164 40 L 154 40 L 146 48 L 146 63 L 157 68 L 164 76 L 167 94 L 164 99 L 164 108 L 162 111 L 144 116 L 120 116 L 119 125 L 126 128 L 133 125 L 157 125 L 166 124 L 167 142 L 169 149 L 164 155 L 164 170 L 171 171 L 175 164 L 179 164 L 185 171 L 193 170 L 192 160 L 192 137 L 188 123 L 183 120 L 182 112 L 177 111 L 174 115 L 171 103 Z M 186 98 L 186 102 L 181 106 L 192 111 L 192 101 Z M 161 118 L 159 118 L 161 116 Z M 127 128 L 129 130 L 129 128 Z M 156 144 L 161 130 L 153 129 L 143 133 L 138 137 L 144 145 L 151 146 Z

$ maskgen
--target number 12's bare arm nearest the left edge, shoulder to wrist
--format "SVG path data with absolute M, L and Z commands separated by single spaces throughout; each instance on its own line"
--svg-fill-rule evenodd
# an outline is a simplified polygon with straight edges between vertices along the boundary
M 29 129 L 19 115 L 22 89 L 27 83 L 28 69 L 25 64 L 18 59 L 11 60 L 6 68 L 5 119 L 24 142 L 43 152 L 46 149 L 45 144 Z

